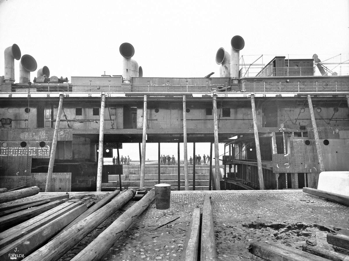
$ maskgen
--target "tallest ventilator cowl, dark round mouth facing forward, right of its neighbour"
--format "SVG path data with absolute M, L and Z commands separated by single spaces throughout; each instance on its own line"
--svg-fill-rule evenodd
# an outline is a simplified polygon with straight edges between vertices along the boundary
M 231 52 L 230 52 L 230 77 L 233 83 L 238 83 L 239 79 L 239 58 L 240 50 L 245 46 L 245 40 L 239 35 L 234 36 L 230 40 Z

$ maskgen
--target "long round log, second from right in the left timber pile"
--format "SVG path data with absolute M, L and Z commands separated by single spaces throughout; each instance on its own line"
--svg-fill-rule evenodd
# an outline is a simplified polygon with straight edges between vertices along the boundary
M 102 224 L 115 211 L 124 206 L 136 194 L 135 189 L 127 189 L 119 194 L 104 207 L 98 209 L 87 218 L 73 225 L 70 229 L 51 240 L 45 246 L 27 256 L 25 261 L 53 261 L 58 260 L 67 251 L 73 248 L 81 239 L 87 236 L 92 230 Z M 104 243 L 103 243 L 104 244 Z

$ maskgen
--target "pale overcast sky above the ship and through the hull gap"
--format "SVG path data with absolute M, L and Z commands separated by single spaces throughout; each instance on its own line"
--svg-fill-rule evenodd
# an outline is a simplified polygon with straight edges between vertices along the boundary
M 134 46 L 133 59 L 144 77 L 210 72 L 219 77 L 216 52 L 220 47 L 230 52 L 235 35 L 245 39 L 240 51 L 245 62 L 261 54 L 266 63 L 275 55 L 311 59 L 314 53 L 321 60 L 341 53 L 334 60 L 344 61 L 349 59 L 349 1 L 0 0 L 0 49 L 15 43 L 22 55 L 36 59 L 38 69 L 48 66 L 51 76 L 69 80 L 104 71 L 121 75 L 124 42 Z M 15 61 L 16 82 L 18 68 Z M 207 153 L 209 145 L 197 149 Z M 138 158 L 138 148 L 132 151 Z M 176 151 L 161 154 L 176 156 Z

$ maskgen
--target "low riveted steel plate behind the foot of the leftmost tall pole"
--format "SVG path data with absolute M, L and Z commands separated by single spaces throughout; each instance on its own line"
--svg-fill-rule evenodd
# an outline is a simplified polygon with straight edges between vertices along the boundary
M 31 186 L 38 186 L 40 192 L 45 191 L 47 173 L 32 173 Z M 72 189 L 72 173 L 71 172 L 55 172 L 52 175 L 54 184 L 54 192 L 69 192 Z

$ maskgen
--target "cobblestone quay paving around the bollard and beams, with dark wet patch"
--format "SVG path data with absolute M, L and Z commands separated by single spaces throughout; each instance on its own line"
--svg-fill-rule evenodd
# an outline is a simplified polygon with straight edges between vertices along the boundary
M 180 260 L 196 204 L 205 194 L 171 194 L 171 207 L 143 212 L 102 260 Z M 60 260 L 68 261 L 135 201 L 102 223 Z M 303 192 L 211 194 L 218 260 L 262 260 L 250 253 L 252 241 L 277 242 L 297 249 L 328 228 L 348 229 L 349 208 Z M 168 225 L 159 224 L 180 216 Z

